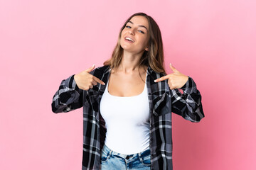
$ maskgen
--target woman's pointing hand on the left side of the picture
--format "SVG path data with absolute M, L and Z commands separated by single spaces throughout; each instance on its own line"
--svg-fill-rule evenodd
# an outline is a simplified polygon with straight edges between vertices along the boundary
M 97 83 L 105 85 L 103 81 L 90 74 L 90 72 L 92 72 L 93 69 L 95 69 L 95 64 L 93 64 L 92 67 L 90 67 L 89 69 L 86 69 L 85 71 L 82 71 L 79 74 L 75 74 L 75 83 L 78 85 L 79 89 L 87 91 L 89 89 L 92 89 L 92 87 L 97 85 Z

